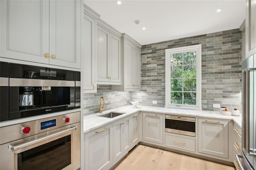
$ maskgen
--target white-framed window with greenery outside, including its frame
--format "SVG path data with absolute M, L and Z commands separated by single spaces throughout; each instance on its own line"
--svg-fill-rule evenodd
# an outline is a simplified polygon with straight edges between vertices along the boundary
M 165 50 L 166 107 L 201 109 L 201 44 Z

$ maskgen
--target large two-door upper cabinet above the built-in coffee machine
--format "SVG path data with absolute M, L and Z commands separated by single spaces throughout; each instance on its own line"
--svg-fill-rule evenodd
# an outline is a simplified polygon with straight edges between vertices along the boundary
M 0 56 L 80 68 L 79 0 L 1 0 Z

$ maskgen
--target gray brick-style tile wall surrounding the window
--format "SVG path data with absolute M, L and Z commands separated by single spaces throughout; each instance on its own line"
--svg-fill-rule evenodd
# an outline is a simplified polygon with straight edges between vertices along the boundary
M 130 101 L 165 105 L 165 49 L 202 44 L 202 109 L 219 111 L 213 104 L 241 111 L 242 34 L 239 29 L 204 34 L 141 48 L 141 91 L 130 92 Z M 157 104 L 152 104 L 156 100 Z

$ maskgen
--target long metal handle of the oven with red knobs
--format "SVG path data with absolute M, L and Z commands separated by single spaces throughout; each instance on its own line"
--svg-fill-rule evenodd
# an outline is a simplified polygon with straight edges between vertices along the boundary
M 50 134 L 49 136 L 45 136 L 45 137 L 42 137 L 42 138 L 38 138 L 38 139 L 36 139 L 36 140 L 32 140 L 32 141 L 30 141 L 30 142 L 26 142 L 26 143 L 23 143 L 23 144 L 20 144 L 20 145 L 17 145 L 17 146 L 12 146 L 12 145 L 8 144 L 8 145 L 9 145 L 9 149 L 14 152 L 14 151 L 16 151 L 16 150 L 25 148 L 25 147 L 30 146 L 30 145 L 32 145 L 32 144 L 36 144 L 36 143 L 38 143 L 38 142 L 42 142 L 42 141 L 44 141 L 44 140 L 53 138 L 53 137 L 55 137 L 55 136 L 59 136 L 59 135 L 61 135 L 61 134 L 64 134 L 64 133 L 66 133 L 66 132 L 70 132 L 70 131 L 76 130 L 76 129 L 77 129 L 77 126 L 74 126 L 74 127 L 69 128 L 69 129 L 62 130 L 62 131 L 60 131 L 60 132 L 57 132 L 57 133 L 54 133 L 54 134 Z

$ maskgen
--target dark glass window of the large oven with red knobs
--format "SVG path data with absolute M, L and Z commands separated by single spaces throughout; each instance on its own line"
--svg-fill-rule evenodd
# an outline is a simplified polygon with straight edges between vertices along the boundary
M 71 164 L 71 135 L 18 154 L 18 170 L 61 170 Z

